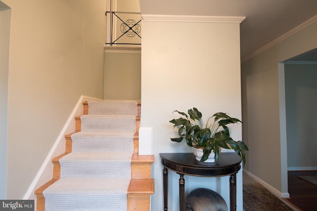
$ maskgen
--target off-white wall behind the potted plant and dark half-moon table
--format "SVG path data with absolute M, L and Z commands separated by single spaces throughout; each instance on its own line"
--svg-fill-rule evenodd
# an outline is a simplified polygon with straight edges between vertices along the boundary
M 163 210 L 162 166 L 159 153 L 190 152 L 168 121 L 172 111 L 196 107 L 203 119 L 222 111 L 241 118 L 239 23 L 143 21 L 141 127 L 153 127 L 155 194 L 153 211 Z M 241 140 L 241 125 L 232 128 Z M 247 161 L 248 162 L 248 161 Z M 179 175 L 169 171 L 168 209 L 178 210 Z M 185 194 L 207 187 L 229 205 L 229 177 L 185 175 Z M 242 173 L 237 176 L 237 210 L 242 211 Z

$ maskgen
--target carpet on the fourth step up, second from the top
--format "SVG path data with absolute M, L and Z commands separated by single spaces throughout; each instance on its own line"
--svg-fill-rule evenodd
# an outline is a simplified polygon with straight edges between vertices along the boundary
M 135 116 L 132 115 L 83 115 L 81 131 L 134 131 Z

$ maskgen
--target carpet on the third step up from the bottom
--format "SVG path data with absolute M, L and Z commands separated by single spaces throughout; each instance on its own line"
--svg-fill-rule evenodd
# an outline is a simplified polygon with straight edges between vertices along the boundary
M 134 135 L 134 131 L 120 133 L 81 131 L 73 133 L 71 135 L 72 151 L 131 152 L 133 151 Z

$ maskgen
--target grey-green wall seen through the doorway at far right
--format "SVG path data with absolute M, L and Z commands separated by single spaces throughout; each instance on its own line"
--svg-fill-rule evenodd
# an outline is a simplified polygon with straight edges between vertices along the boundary
M 285 64 L 287 167 L 317 168 L 317 65 Z

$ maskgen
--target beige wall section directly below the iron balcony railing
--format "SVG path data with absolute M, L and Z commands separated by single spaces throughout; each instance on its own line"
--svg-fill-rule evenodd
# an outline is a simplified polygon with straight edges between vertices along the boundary
M 141 99 L 141 50 L 105 53 L 104 99 Z

